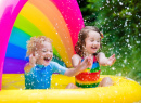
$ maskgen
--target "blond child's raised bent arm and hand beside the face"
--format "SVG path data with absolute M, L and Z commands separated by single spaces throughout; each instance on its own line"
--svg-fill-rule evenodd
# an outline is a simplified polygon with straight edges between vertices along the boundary
M 35 65 L 36 65 L 36 60 L 37 60 L 36 56 L 34 56 L 33 54 L 29 55 L 29 63 L 27 63 L 27 64 L 25 65 L 25 68 L 24 68 L 24 70 L 25 70 L 26 73 L 29 73 L 30 69 L 31 69 L 33 67 L 35 67 Z

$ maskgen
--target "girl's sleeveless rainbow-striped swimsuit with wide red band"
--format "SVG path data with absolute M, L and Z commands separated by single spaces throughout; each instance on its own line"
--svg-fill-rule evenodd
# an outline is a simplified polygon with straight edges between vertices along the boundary
M 84 61 L 84 60 L 82 60 Z M 100 65 L 93 56 L 93 64 L 91 69 L 87 68 L 85 72 L 75 77 L 76 86 L 81 88 L 95 88 L 100 83 Z

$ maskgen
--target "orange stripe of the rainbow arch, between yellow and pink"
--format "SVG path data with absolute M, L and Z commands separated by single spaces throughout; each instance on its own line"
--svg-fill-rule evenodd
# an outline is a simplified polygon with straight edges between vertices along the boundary
M 57 8 L 50 0 L 29 0 L 29 2 L 38 8 L 51 22 L 53 27 L 59 33 L 63 44 L 65 46 L 69 60 L 72 60 L 72 56 L 74 55 L 72 37 L 66 26 L 65 20 Z

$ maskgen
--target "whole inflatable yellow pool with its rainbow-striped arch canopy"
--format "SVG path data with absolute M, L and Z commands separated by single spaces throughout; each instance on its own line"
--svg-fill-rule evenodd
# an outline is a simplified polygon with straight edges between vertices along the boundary
M 111 76 L 115 81 L 114 86 L 104 88 L 66 90 L 63 88 L 69 82 L 75 83 L 75 78 L 53 75 L 52 85 L 56 88 L 64 85 L 62 89 L 1 90 L 5 81 L 13 78 L 21 79 L 24 85 L 24 66 L 28 62 L 26 41 L 33 36 L 43 35 L 51 38 L 53 61 L 72 67 L 74 46 L 84 26 L 76 0 L 0 0 L 0 103 L 140 101 L 141 86 L 116 76 Z M 105 76 L 101 76 L 103 77 Z M 57 81 L 60 86 L 54 83 Z

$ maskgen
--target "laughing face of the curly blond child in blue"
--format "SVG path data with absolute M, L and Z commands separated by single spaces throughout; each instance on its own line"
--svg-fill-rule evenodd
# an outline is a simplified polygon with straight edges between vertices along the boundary
M 35 54 L 38 54 L 37 57 L 37 64 L 41 65 L 49 65 L 50 61 L 53 57 L 53 50 L 50 42 L 44 41 L 42 44 L 38 46 L 37 52 Z

